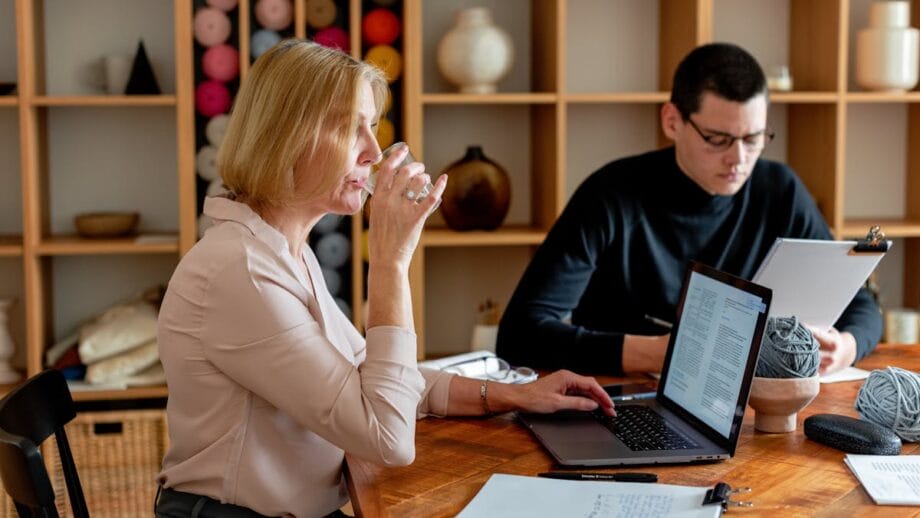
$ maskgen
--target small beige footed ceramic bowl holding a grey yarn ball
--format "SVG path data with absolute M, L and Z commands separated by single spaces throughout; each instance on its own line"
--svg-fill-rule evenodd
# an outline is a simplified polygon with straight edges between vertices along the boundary
M 754 377 L 748 404 L 754 409 L 754 428 L 761 432 L 795 431 L 799 410 L 818 395 L 818 376 L 810 378 Z

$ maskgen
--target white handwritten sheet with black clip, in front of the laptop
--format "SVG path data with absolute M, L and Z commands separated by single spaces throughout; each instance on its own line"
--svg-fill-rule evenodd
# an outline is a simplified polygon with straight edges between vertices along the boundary
M 492 475 L 458 518 L 717 517 L 705 487 Z

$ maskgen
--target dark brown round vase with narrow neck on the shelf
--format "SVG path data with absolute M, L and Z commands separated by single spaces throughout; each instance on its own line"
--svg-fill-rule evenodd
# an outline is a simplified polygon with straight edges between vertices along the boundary
M 450 180 L 441 196 L 441 215 L 454 230 L 495 230 L 511 204 L 508 173 L 482 152 L 469 146 L 466 155 L 443 171 Z

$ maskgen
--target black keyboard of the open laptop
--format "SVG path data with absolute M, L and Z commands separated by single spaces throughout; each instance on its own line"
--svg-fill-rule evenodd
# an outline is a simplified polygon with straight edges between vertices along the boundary
M 633 451 L 691 450 L 700 447 L 668 424 L 658 412 L 644 405 L 617 405 L 616 417 L 602 412 L 596 412 L 594 416 Z

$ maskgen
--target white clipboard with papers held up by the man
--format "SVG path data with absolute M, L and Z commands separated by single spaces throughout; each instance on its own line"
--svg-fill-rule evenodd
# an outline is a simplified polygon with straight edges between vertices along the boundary
M 834 325 L 885 252 L 854 252 L 856 241 L 777 238 L 753 282 L 773 290 L 770 316 Z M 886 249 L 891 249 L 891 241 Z

